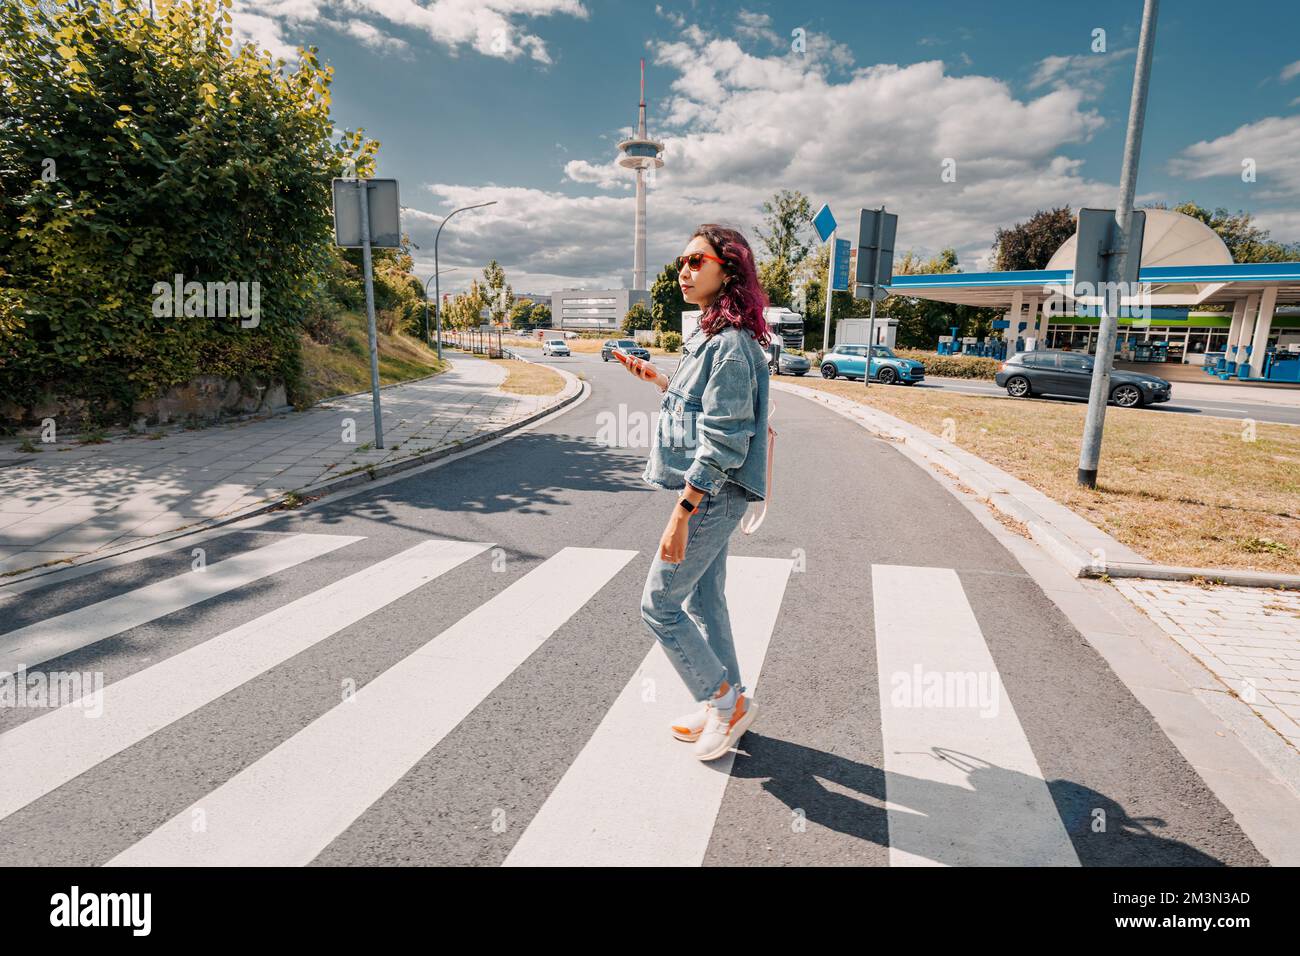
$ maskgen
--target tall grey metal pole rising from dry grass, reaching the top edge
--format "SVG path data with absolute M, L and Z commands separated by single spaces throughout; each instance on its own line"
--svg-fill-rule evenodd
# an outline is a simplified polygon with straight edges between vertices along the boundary
M 1134 94 L 1128 104 L 1128 131 L 1124 135 L 1124 161 L 1119 173 L 1119 206 L 1115 207 L 1114 248 L 1106 256 L 1109 282 L 1126 282 L 1128 272 L 1130 230 L 1134 217 L 1134 193 L 1138 186 L 1138 159 L 1141 155 L 1141 131 L 1147 118 L 1147 87 L 1150 85 L 1150 55 L 1156 46 L 1156 13 L 1160 0 L 1145 0 L 1141 12 L 1141 34 L 1138 38 L 1138 65 L 1134 69 Z M 1138 246 L 1136 255 L 1141 255 Z M 1135 276 L 1136 277 L 1136 276 Z M 1134 290 L 1126 290 L 1132 300 Z M 1101 297 L 1101 321 L 1097 332 L 1097 358 L 1092 365 L 1092 385 L 1088 390 L 1088 419 L 1083 427 L 1083 447 L 1079 449 L 1078 483 L 1084 488 L 1097 486 L 1097 464 L 1101 460 L 1101 432 L 1106 421 L 1106 403 L 1110 401 L 1110 365 L 1115 358 L 1115 332 L 1118 316 L 1110 315 L 1109 291 Z M 1115 297 L 1117 302 L 1122 297 Z M 1118 311 L 1118 310 L 1117 310 Z

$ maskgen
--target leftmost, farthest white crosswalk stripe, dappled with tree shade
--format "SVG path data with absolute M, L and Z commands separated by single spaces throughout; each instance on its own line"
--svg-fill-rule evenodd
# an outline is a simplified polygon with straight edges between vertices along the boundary
M 0 635 L 0 674 L 35 667 L 360 540 L 351 535 L 295 535 L 203 571 L 186 571 L 10 631 Z

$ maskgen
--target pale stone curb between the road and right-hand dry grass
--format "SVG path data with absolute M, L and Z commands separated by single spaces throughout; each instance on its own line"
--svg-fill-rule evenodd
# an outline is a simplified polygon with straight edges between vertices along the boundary
M 1206 579 L 1247 588 L 1300 589 L 1300 575 L 1235 568 L 1178 567 L 1145 561 L 1127 545 L 1070 511 L 1065 505 L 1052 501 L 1041 492 L 1030 488 L 1024 481 L 945 438 L 931 434 L 879 408 L 818 389 L 779 382 L 775 378 L 772 388 L 824 405 L 831 411 L 857 421 L 868 432 L 913 449 L 927 464 L 946 472 L 966 485 L 989 507 L 1023 524 L 1030 537 L 1074 578 L 1153 578 L 1182 581 Z M 1035 501 L 1026 499 L 1030 497 L 1026 489 L 1035 497 Z M 1088 544 L 1092 544 L 1093 548 L 1083 546 L 1061 527 L 1062 524 L 1072 527 L 1076 533 L 1080 528 L 1086 528 Z M 1138 561 L 1108 561 L 1106 554 L 1132 555 Z

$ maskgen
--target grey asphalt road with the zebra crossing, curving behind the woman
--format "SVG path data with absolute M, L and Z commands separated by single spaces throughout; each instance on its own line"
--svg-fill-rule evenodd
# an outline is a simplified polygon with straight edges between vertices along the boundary
M 0 654 L 107 684 L 0 710 L 0 862 L 1264 862 L 958 501 L 786 395 L 728 563 L 760 715 L 696 761 L 640 619 L 675 496 L 598 441 L 659 393 L 547 362 L 592 394 L 508 441 L 0 605 Z

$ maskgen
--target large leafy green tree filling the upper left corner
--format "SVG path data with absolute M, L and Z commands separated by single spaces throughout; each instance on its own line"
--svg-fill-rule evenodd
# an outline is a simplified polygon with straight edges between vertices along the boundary
M 234 47 L 229 0 L 0 3 L 0 394 L 81 398 L 104 420 L 198 375 L 299 376 L 298 336 L 338 278 L 333 70 Z M 156 284 L 257 282 L 261 315 L 155 315 Z M 161 311 L 161 310 L 160 310 Z

